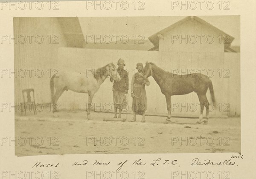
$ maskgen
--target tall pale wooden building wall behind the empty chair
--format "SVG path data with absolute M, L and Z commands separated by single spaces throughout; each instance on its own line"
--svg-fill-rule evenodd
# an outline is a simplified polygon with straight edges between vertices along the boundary
M 35 89 L 35 102 L 50 102 L 48 71 L 49 69 L 53 71 L 58 67 L 58 48 L 66 46 L 66 40 L 57 18 L 15 17 L 14 35 L 18 39 L 17 43 L 14 43 L 14 68 L 17 69 L 15 103 L 19 104 L 23 101 L 21 91 L 26 88 Z M 33 37 L 30 43 L 28 36 L 31 35 Z M 57 36 L 53 37 L 54 35 Z M 23 43 L 23 36 L 27 37 L 25 43 Z M 35 41 L 36 36 L 38 36 L 37 41 Z M 44 38 L 42 43 L 39 43 L 41 41 L 39 36 Z M 53 43 L 54 40 L 56 40 L 55 43 Z M 31 76 L 29 76 L 28 69 L 33 69 Z M 37 70 L 38 77 L 35 74 Z M 25 77 L 23 77 L 24 71 L 27 72 Z M 41 71 L 44 73 L 42 77 L 40 77 Z

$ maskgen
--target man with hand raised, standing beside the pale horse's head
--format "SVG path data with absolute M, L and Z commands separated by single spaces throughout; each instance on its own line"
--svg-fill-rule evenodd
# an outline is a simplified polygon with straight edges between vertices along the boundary
M 119 109 L 118 118 L 121 118 L 122 109 L 127 108 L 125 94 L 128 93 L 129 89 L 129 77 L 128 72 L 124 69 L 125 60 L 120 58 L 117 62 L 117 65 L 117 73 L 120 75 L 121 80 L 119 82 L 114 81 L 113 84 L 113 101 L 115 109 L 114 118 L 117 118 L 117 109 Z M 113 82 L 113 78 L 110 78 L 110 81 Z

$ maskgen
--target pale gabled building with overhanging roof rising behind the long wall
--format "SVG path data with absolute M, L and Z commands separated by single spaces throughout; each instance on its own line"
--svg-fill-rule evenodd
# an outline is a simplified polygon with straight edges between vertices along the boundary
M 148 37 L 153 51 L 236 52 L 229 34 L 196 16 L 184 19 Z

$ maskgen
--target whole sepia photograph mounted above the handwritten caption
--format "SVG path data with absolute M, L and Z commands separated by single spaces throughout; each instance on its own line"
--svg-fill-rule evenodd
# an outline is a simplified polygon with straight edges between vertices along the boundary
M 240 15 L 13 17 L 13 30 L 16 156 L 241 153 Z

